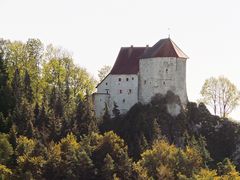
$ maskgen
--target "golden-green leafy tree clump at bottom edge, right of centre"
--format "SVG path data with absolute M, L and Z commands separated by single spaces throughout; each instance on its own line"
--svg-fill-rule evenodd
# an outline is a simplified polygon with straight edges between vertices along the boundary
M 140 177 L 153 179 L 174 179 L 180 175 L 189 178 L 203 166 L 196 149 L 187 146 L 182 150 L 165 140 L 156 141 L 141 157 L 135 165 L 136 171 Z

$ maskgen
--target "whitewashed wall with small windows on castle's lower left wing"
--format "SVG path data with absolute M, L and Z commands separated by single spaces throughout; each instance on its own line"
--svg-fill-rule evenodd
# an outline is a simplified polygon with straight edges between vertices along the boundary
M 138 75 L 109 74 L 97 87 L 94 94 L 94 106 L 97 117 L 104 113 L 105 103 L 112 114 L 113 103 L 116 102 L 121 113 L 126 113 L 138 102 Z

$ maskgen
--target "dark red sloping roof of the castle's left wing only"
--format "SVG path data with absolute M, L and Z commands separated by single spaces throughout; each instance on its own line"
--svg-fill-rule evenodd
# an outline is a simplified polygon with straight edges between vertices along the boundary
M 122 47 L 110 74 L 137 74 L 139 59 L 148 47 Z

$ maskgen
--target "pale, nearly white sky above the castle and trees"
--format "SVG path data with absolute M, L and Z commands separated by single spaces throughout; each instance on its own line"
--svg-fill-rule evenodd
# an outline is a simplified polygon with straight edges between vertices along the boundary
M 239 0 L 0 0 L 0 17 L 0 37 L 61 46 L 95 77 L 122 46 L 152 46 L 170 28 L 190 57 L 191 101 L 211 76 L 224 75 L 240 89 Z M 240 108 L 232 113 L 239 116 Z

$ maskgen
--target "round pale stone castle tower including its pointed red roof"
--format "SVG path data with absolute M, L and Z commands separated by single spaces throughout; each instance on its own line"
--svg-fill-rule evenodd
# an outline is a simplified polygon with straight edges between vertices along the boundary
M 139 102 L 148 103 L 160 93 L 172 91 L 183 105 L 188 102 L 186 60 L 188 56 L 170 39 L 148 48 L 139 61 Z

